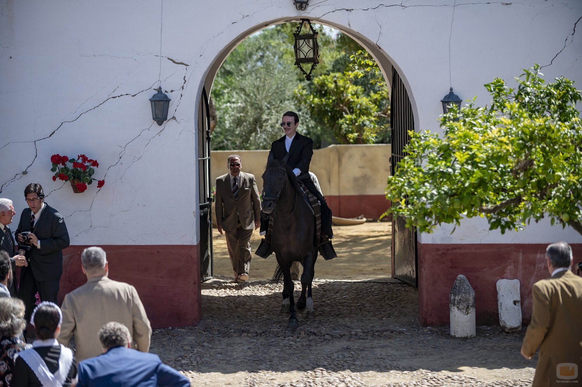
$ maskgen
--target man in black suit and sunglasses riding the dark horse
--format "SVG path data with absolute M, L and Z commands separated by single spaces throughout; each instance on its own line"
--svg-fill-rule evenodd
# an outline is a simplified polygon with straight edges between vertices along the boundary
M 321 192 L 315 187 L 313 180 L 309 174 L 309 164 L 311 163 L 311 156 L 313 156 L 313 140 L 307 136 L 297 133 L 297 126 L 299 126 L 299 116 L 295 112 L 285 112 L 280 124 L 285 131 L 285 135 L 271 144 L 271 151 L 269 152 L 268 162 L 271 160 L 279 160 L 279 162 L 286 163 L 291 167 L 297 179 L 303 182 L 306 188 L 311 192 L 321 204 L 321 228 L 322 233 L 327 236 L 327 239 L 333 238 L 333 231 L 331 228 L 331 209 L 329 209 L 327 202 Z M 261 216 L 261 230 L 260 234 L 265 235 L 269 224 L 269 217 L 262 214 Z M 332 259 L 336 257 L 335 251 L 331 245 L 331 241 L 322 243 L 322 255 L 325 259 Z M 270 255 L 270 246 L 267 243 L 261 243 L 256 255 L 267 258 Z

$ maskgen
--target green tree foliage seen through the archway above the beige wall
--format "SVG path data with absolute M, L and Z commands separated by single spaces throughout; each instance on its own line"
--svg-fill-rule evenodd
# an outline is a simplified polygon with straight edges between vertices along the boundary
M 211 97 L 217 112 L 212 149 L 268 149 L 272 141 L 281 137 L 278 114 L 286 110 L 299 113 L 301 133 L 313 138 L 315 148 L 335 142 L 389 141 L 387 89 L 381 91 L 371 83 L 373 71 L 350 73 L 357 62 L 351 57 L 359 51 L 359 56 L 367 55 L 363 48 L 347 35 L 314 24 L 322 55 L 312 81 L 307 82 L 293 65 L 296 27 L 296 23 L 285 23 L 265 28 L 244 40 L 226 58 L 212 85 Z M 349 105 L 350 113 L 336 107 L 340 111 L 333 113 L 342 120 L 339 126 L 338 121 L 322 116 L 322 110 L 300 102 L 295 91 L 305 85 L 308 95 L 325 93 L 333 73 L 340 74 L 339 84 L 327 91 L 346 95 L 345 99 L 355 104 Z M 331 123 L 337 127 L 332 128 Z

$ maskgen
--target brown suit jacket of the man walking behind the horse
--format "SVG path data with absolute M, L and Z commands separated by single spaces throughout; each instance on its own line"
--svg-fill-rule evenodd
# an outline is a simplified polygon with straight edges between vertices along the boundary
M 235 200 L 229 174 L 217 177 L 214 207 L 217 224 L 225 231 L 236 231 L 237 225 L 253 230 L 254 222 L 261 219 L 261 199 L 253 174 L 239 174 L 239 200 Z

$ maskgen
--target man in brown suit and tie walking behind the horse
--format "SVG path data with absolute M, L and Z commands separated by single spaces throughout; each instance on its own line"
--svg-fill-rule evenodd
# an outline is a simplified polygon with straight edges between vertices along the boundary
M 260 226 L 261 199 L 254 175 L 240 171 L 239 155 L 228 156 L 230 173 L 217 177 L 215 209 L 218 232 L 226 234 L 226 246 L 232 270 L 233 282 L 249 279 L 251 262 L 251 234 Z

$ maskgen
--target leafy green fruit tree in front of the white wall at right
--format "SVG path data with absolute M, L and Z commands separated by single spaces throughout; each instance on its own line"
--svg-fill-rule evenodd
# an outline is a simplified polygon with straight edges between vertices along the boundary
M 545 84 L 539 70 L 524 70 L 517 89 L 499 78 L 486 84 L 491 106 L 473 99 L 453 109 L 442 137 L 411 134 L 408 156 L 388 178 L 388 212 L 421 232 L 482 216 L 503 233 L 548 216 L 582 234 L 582 95 L 564 77 Z

